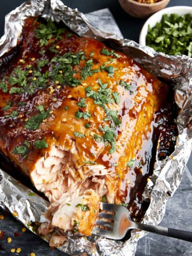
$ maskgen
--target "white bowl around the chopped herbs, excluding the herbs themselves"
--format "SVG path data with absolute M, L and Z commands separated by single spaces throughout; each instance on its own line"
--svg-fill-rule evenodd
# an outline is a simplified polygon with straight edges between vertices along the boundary
M 146 20 L 146 23 L 143 25 L 140 35 L 139 35 L 139 44 L 146 45 L 146 34 L 148 32 L 148 25 L 150 27 L 154 27 L 157 22 L 161 21 L 161 18 L 163 14 L 171 14 L 171 13 L 177 13 L 180 16 L 184 15 L 186 13 L 192 14 L 192 7 L 189 6 L 173 6 L 173 7 L 167 7 L 163 10 L 160 10 L 159 12 L 153 14 L 148 20 Z

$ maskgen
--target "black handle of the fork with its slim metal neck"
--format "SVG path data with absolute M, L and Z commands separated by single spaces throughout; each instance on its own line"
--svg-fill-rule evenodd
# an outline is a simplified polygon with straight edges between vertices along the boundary
M 192 232 L 190 231 L 179 230 L 179 229 L 169 229 L 169 228 L 160 227 L 160 226 L 146 225 L 143 223 L 137 223 L 137 226 L 139 229 L 142 229 L 148 232 L 156 233 L 162 236 L 170 236 L 170 237 L 192 242 Z

